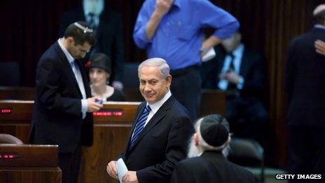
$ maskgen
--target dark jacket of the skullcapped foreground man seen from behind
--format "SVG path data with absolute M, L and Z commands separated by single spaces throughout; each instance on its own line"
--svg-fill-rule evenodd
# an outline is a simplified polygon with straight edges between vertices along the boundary
M 179 162 L 170 182 L 248 183 L 255 182 L 255 179 L 251 172 L 231 163 L 221 152 L 205 151 L 201 156 Z

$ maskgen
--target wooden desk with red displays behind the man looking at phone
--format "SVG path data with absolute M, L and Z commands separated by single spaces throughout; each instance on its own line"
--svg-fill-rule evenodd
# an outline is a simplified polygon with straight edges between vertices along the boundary
M 0 133 L 8 133 L 27 143 L 33 101 L 0 101 L 1 109 L 11 109 L 0 114 Z M 94 114 L 94 144 L 83 147 L 79 182 L 116 182 L 106 173 L 106 165 L 124 149 L 139 102 L 106 102 Z

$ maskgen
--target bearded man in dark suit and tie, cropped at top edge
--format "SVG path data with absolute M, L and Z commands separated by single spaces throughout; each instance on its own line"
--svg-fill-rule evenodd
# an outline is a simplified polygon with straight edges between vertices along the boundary
M 123 89 L 124 48 L 122 36 L 122 19 L 120 14 L 104 6 L 104 0 L 83 0 L 83 8 L 67 11 L 61 17 L 59 36 L 72 22 L 85 21 L 94 29 L 97 43 L 84 61 L 92 53 L 105 53 L 112 60 L 110 82 L 116 89 Z

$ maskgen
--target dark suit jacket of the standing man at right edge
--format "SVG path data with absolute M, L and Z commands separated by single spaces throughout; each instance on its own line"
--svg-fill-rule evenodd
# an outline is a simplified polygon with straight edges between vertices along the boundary
M 294 38 L 286 60 L 289 125 L 325 126 L 325 57 L 314 41 L 325 41 L 325 30 L 313 28 Z

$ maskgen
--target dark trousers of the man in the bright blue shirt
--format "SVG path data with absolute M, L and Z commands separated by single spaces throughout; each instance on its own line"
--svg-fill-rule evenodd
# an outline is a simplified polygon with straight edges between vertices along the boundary
M 200 67 L 192 66 L 170 72 L 172 94 L 188 109 L 192 121 L 198 118 L 201 102 Z

